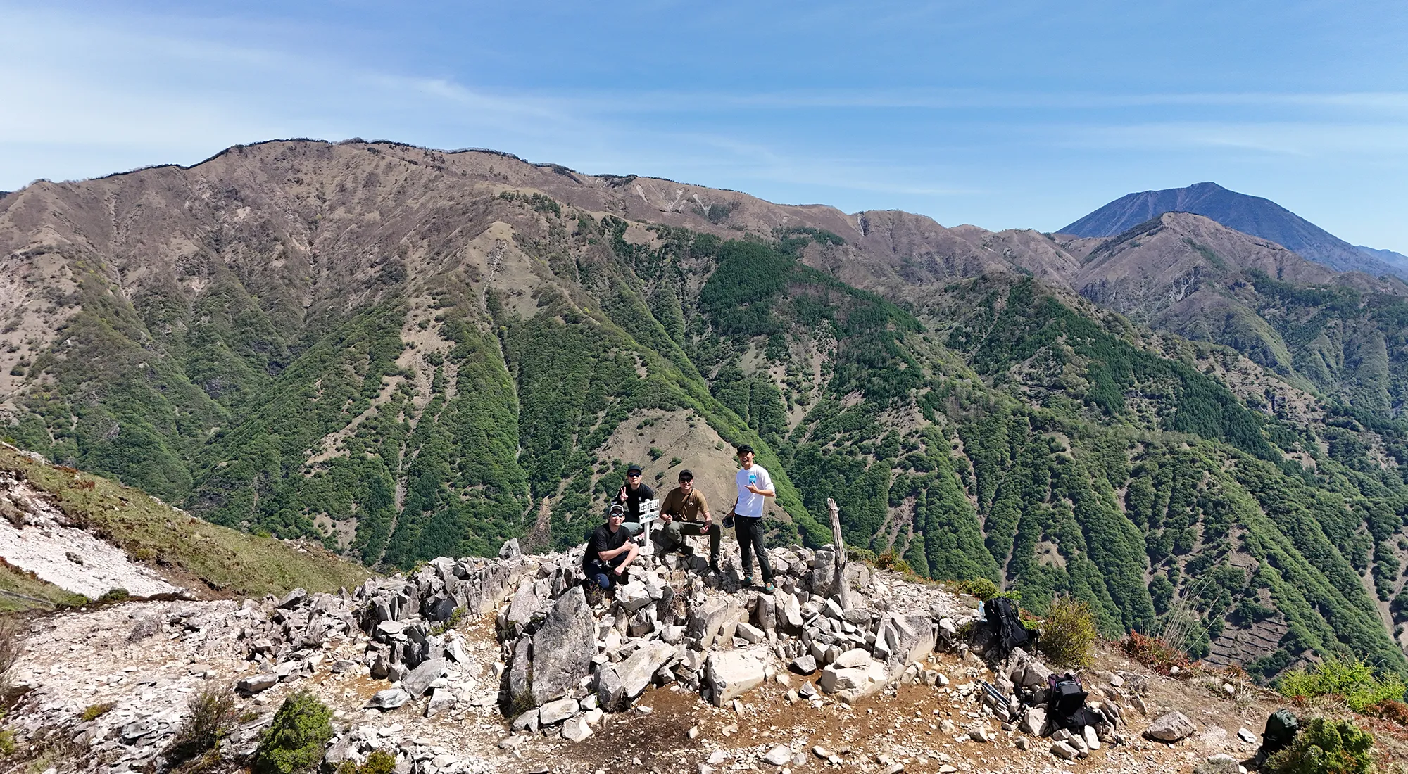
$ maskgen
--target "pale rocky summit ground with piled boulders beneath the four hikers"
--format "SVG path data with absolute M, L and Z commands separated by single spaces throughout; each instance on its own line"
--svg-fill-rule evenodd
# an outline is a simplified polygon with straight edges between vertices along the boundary
M 189 697 L 232 684 L 232 760 L 308 690 L 334 711 L 327 763 L 384 749 L 400 774 L 1235 773 L 1276 706 L 1235 680 L 1104 653 L 1083 675 L 1098 722 L 1052 735 L 1039 709 L 981 688 L 1041 691 L 1049 670 L 1021 652 L 986 661 L 972 597 L 853 563 L 842 609 L 828 549 L 772 557 L 774 594 L 741 588 L 736 556 L 722 578 L 665 556 L 593 605 L 580 550 L 510 542 L 500 559 L 438 559 L 342 594 L 44 615 L 10 673 L 23 763 L 0 768 L 166 770 Z

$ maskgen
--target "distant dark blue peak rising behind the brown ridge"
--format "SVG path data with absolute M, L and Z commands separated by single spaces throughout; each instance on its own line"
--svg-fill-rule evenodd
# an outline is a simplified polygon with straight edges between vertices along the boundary
M 1117 236 L 1164 212 L 1193 212 L 1211 218 L 1242 234 L 1270 239 L 1338 272 L 1408 277 L 1408 269 L 1384 260 L 1387 256 L 1362 250 L 1269 198 L 1232 191 L 1212 182 L 1126 194 L 1060 232 L 1074 236 Z

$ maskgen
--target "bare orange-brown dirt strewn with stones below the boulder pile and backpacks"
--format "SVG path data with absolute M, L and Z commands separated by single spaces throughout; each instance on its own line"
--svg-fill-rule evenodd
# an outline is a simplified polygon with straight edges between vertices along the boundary
M 1062 761 L 1049 753 L 1050 740 L 1029 739 L 1029 749 L 1017 747 L 1021 732 L 998 730 L 998 723 L 987 718 L 987 728 L 995 732 L 987 743 L 967 737 L 974 718 L 964 715 L 979 706 L 959 701 L 953 688 L 970 680 L 991 680 L 986 667 L 959 663 L 950 654 L 936 654 L 935 667 L 950 680 L 949 690 L 926 685 L 905 685 L 893 695 L 877 694 L 849 706 L 829 699 L 787 704 L 786 685 L 767 683 L 745 694 L 742 713 L 734 708 L 717 708 L 700 701 L 698 695 L 670 687 L 648 691 L 628 715 L 610 716 L 607 725 L 580 743 L 560 739 L 534 739 L 517 749 L 518 764 L 501 764 L 504 771 L 560 774 L 587 773 L 673 773 L 696 771 L 715 750 L 729 753 L 715 771 L 758 770 L 780 771 L 759 760 L 777 744 L 805 750 L 807 763 L 790 766 L 794 771 L 834 768 L 839 771 L 873 773 L 893 763 L 907 773 L 964 771 L 981 773 L 1052 773 L 1052 771 L 1191 771 L 1194 766 L 1217 753 L 1229 753 L 1238 760 L 1250 759 L 1259 742 L 1238 739 L 1239 729 L 1260 736 L 1266 716 L 1286 705 L 1274 692 L 1256 688 L 1245 681 L 1224 680 L 1219 673 L 1194 673 L 1186 678 L 1155 675 L 1121 652 L 1104 650 L 1095 667 L 1086 675 L 1091 699 L 1102 699 L 1100 673 L 1118 670 L 1156 677 L 1143 694 L 1148 716 L 1131 705 L 1125 708 L 1129 744 L 1102 744 L 1088 759 Z M 790 675 L 791 687 L 803 678 Z M 1228 692 L 1224 685 L 1232 685 Z M 1139 735 L 1149 722 L 1166 711 L 1187 715 L 1198 732 L 1177 743 L 1152 743 Z M 1335 713 L 1335 706 L 1318 708 Z M 1304 708 L 1302 708 L 1304 711 Z M 981 716 L 981 715 L 979 715 Z M 942 721 L 956 728 L 950 733 L 941 729 Z M 1363 723 L 1364 719 L 1360 718 Z M 1373 725 L 1373 721 L 1370 721 Z M 1405 760 L 1408 729 L 1378 723 L 1383 767 L 1385 771 L 1397 760 Z M 691 728 L 698 735 L 690 737 Z M 839 754 L 839 766 L 828 764 L 811 753 L 812 746 Z M 881 759 L 883 756 L 883 759 Z M 718 756 L 715 754 L 715 761 Z M 517 767 L 515 767 L 517 766 Z M 708 764 L 707 764 L 708 766 Z M 946 768 L 952 767 L 952 768 Z

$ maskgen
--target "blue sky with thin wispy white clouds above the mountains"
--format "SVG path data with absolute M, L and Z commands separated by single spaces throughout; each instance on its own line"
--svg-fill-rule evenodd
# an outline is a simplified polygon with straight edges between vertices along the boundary
M 945 225 L 1214 180 L 1408 253 L 1408 3 L 0 0 L 0 190 L 286 137 Z

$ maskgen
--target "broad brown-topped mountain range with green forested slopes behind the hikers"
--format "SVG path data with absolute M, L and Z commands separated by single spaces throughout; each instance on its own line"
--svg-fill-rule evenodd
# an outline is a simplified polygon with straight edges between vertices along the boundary
M 234 148 L 0 200 L 4 433 L 394 567 L 580 540 L 628 462 L 693 469 L 724 511 L 749 442 L 808 542 L 834 497 L 859 549 L 1038 611 L 1080 595 L 1111 635 L 1183 616 L 1194 653 L 1259 674 L 1405 668 L 1397 372 L 1366 404 L 1353 356 L 1316 381 L 1270 322 L 1367 325 L 1397 290 L 1209 221 L 1121 239 L 489 152 Z M 1140 326 L 1191 325 L 1160 288 L 1193 269 L 1181 300 L 1238 298 L 1290 367 Z

